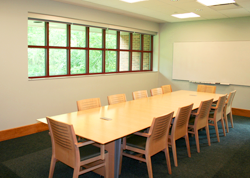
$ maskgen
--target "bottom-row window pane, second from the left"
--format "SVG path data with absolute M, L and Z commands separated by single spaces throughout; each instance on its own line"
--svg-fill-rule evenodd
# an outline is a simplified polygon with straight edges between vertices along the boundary
M 49 50 L 49 75 L 67 74 L 67 51 L 66 49 Z

